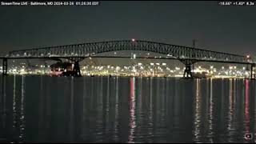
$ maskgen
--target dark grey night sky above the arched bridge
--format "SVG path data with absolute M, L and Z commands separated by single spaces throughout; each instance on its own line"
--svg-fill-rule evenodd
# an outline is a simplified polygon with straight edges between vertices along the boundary
M 0 54 L 42 46 L 130 39 L 256 54 L 256 6 L 218 2 L 100 2 L 0 6 Z

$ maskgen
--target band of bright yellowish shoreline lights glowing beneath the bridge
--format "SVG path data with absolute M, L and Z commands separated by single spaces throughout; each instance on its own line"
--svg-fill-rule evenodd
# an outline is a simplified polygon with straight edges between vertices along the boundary
M 182 77 L 185 67 L 175 66 L 169 67 L 165 62 L 150 62 L 148 64 L 142 64 L 138 62 L 133 66 L 81 66 L 82 75 L 115 75 L 115 76 L 144 76 L 144 77 Z M 0 67 L 2 71 L 2 67 Z M 245 78 L 249 74 L 246 67 L 229 66 L 217 69 L 214 66 L 208 66 L 203 68 L 202 66 L 196 66 L 192 70 L 192 73 L 197 77 L 207 78 Z M 8 70 L 8 74 L 46 74 L 52 75 L 50 66 L 40 65 L 36 69 L 31 69 L 26 66 L 15 66 Z

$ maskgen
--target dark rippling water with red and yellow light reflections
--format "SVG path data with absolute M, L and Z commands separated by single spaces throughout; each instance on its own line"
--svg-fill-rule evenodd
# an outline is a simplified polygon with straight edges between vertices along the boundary
M 0 142 L 256 140 L 254 81 L 8 76 L 1 82 Z

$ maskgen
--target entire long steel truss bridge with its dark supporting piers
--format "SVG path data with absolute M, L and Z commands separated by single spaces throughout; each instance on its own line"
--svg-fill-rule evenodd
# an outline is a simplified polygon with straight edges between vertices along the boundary
M 161 59 L 178 59 L 186 66 L 183 75 L 184 77 L 192 77 L 191 66 L 195 62 L 226 62 L 250 65 L 250 77 L 255 78 L 255 63 L 247 56 L 134 39 L 109 42 L 89 42 L 66 46 L 50 46 L 36 49 L 10 51 L 9 54 L 1 57 L 3 60 L 3 74 L 7 74 L 8 59 L 50 58 L 56 60 L 59 58 L 66 58 L 74 62 L 75 76 L 81 76 L 79 62 L 81 62 L 84 58 L 130 58 L 121 56 L 98 56 L 98 54 L 118 50 L 142 50 L 166 55 L 166 57 L 161 57 Z M 138 58 L 155 57 L 145 56 Z

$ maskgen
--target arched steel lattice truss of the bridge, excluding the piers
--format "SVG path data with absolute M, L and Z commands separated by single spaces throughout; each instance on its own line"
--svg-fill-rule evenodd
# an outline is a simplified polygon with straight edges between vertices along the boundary
M 248 62 L 245 56 L 227 54 L 212 50 L 202 50 L 188 46 L 171 45 L 149 41 L 109 41 L 90 42 L 66 46 L 51 46 L 28 50 L 10 51 L 9 57 L 84 57 L 118 50 L 144 50 L 158 54 L 168 54 L 177 59 L 215 60 L 225 62 Z

